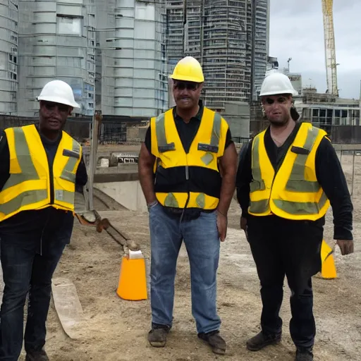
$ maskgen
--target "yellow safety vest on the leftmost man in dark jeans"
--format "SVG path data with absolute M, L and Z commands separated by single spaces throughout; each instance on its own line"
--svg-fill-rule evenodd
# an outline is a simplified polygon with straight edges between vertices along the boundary
M 73 212 L 81 145 L 63 132 L 50 171 L 34 125 L 7 128 L 5 133 L 10 152 L 10 177 L 0 191 L 0 221 L 22 211 L 49 206 Z

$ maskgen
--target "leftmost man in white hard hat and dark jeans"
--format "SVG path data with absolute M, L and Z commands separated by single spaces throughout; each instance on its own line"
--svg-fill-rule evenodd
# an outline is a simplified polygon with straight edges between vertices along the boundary
M 39 123 L 0 135 L 0 245 L 4 295 L 0 312 L 0 361 L 47 361 L 44 351 L 51 277 L 70 242 L 75 187 L 87 183 L 82 147 L 63 131 L 79 107 L 61 80 L 37 98 Z M 79 189 L 80 188 L 80 189 Z

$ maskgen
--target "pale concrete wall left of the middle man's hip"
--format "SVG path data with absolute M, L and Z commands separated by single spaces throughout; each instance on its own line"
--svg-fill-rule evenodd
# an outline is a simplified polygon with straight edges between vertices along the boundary
M 147 202 L 139 181 L 94 183 L 94 188 L 102 190 L 131 211 L 147 212 Z

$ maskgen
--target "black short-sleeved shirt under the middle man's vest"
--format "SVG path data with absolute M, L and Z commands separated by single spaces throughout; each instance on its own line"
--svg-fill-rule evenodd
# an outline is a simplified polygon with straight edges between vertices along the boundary
M 173 108 L 173 118 L 176 123 L 178 135 L 181 138 L 181 142 L 186 153 L 189 152 L 190 145 L 192 145 L 192 141 L 195 135 L 197 134 L 198 129 L 200 128 L 200 121 L 202 120 L 203 110 L 204 110 L 204 106 L 202 100 L 200 100 L 200 110 L 198 111 L 197 115 L 193 116 L 190 119 L 189 123 L 185 123 L 181 118 L 181 116 L 178 116 L 176 107 Z M 151 130 L 149 126 L 149 128 L 147 129 L 147 133 L 145 134 L 145 141 L 144 141 L 145 146 L 147 147 L 149 153 L 151 152 L 152 149 L 151 139 L 152 139 Z M 233 143 L 233 140 L 232 140 L 231 130 L 229 130 L 228 128 L 226 134 L 226 144 L 224 149 L 226 149 L 231 143 Z

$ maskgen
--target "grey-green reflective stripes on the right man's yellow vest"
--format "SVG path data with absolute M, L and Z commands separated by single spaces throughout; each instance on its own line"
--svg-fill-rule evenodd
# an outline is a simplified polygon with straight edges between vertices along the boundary
M 307 181 L 305 179 L 305 164 L 307 157 L 310 154 L 310 151 L 314 145 L 314 142 L 319 134 L 317 128 L 310 128 L 307 130 L 307 137 L 305 140 L 305 145 L 302 147 L 306 152 L 302 152 L 300 149 L 297 152 L 297 149 L 294 149 L 294 152 L 297 152 L 295 161 L 293 164 L 290 177 L 286 183 L 286 190 L 290 192 L 300 192 L 300 193 L 317 193 L 319 192 L 321 185 L 317 181 Z M 250 184 L 250 192 L 255 192 L 257 190 L 265 190 L 264 180 L 262 179 L 261 168 L 259 165 L 259 136 L 255 137 L 253 140 L 254 144 L 252 147 L 252 176 L 254 181 Z M 319 209 L 324 207 L 327 202 L 327 197 L 324 192 L 319 199 L 319 202 L 292 202 L 288 200 L 272 200 L 276 207 L 282 209 L 288 214 L 317 214 Z M 262 214 L 267 212 L 269 209 L 269 199 L 251 201 L 250 202 L 250 212 L 255 214 Z

